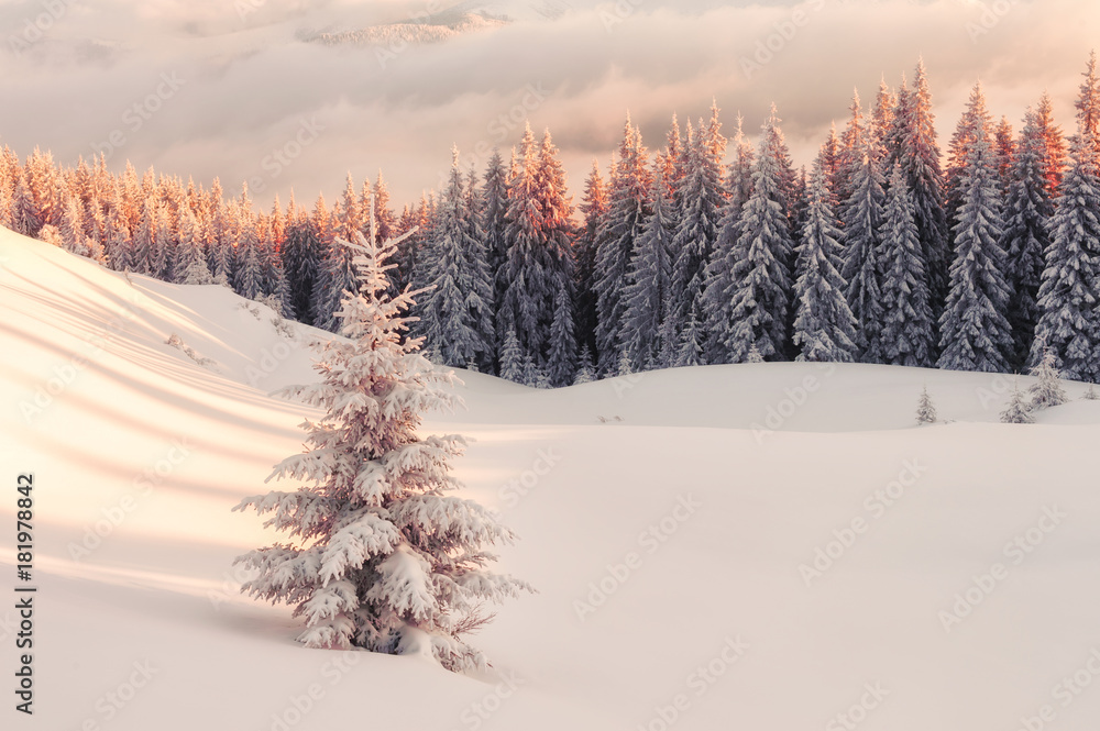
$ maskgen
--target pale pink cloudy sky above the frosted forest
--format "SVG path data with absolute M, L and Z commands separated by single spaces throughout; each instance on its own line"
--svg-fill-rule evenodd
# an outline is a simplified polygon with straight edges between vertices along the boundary
M 515 20 L 427 44 L 307 41 L 479 8 Z M 653 149 L 673 112 L 713 98 L 727 132 L 739 112 L 755 135 L 774 101 L 802 164 L 854 88 L 868 104 L 922 55 L 942 140 L 979 78 L 1014 128 L 1045 89 L 1068 130 L 1098 20 L 1090 0 L 0 0 L 0 143 L 65 164 L 109 151 L 112 168 L 227 190 L 252 179 L 264 204 L 292 187 L 331 200 L 349 170 L 381 168 L 400 203 L 438 187 L 452 145 L 481 169 L 529 120 L 579 193 L 627 111 Z

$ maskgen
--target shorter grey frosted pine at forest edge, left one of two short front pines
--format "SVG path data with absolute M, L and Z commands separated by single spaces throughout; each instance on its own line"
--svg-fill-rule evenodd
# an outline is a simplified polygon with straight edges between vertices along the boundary
M 810 206 L 798 250 L 794 298 L 794 344 L 799 361 L 849 363 L 856 351 L 856 319 L 844 297 L 840 277 L 840 232 L 829 204 L 828 184 L 821 159 L 810 181 Z

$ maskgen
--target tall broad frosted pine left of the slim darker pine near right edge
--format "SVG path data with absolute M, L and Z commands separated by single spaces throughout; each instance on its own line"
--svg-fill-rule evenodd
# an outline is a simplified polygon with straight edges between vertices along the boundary
M 980 89 L 976 96 L 971 102 L 980 119 L 985 110 Z M 952 370 L 1001 373 L 1008 369 L 1012 335 L 1004 318 L 1009 301 L 1005 257 L 998 243 L 1004 228 L 999 179 L 985 128 L 977 124 L 972 135 L 965 151 L 950 290 L 939 321 L 938 365 Z

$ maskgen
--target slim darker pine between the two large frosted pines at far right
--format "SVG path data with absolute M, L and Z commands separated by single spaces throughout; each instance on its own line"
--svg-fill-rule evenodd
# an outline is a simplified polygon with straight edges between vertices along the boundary
M 1028 109 L 1012 166 L 1001 237 L 1001 248 L 1008 257 L 1005 278 L 1011 292 L 1007 313 L 1013 340 L 1010 365 L 1016 368 L 1027 361 L 1035 337 L 1043 254 L 1050 243 L 1047 228 L 1054 204 L 1047 195 L 1044 155 L 1042 130 L 1035 112 Z

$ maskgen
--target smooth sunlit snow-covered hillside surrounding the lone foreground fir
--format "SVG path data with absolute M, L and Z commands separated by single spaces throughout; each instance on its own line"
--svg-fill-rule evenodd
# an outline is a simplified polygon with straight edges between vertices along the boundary
M 1007 425 L 1011 379 L 981 374 L 759 364 L 559 391 L 463 374 L 468 410 L 428 428 L 476 439 L 459 477 L 522 536 L 502 567 L 540 590 L 474 639 L 499 677 L 468 678 L 305 650 L 285 608 L 238 596 L 233 556 L 273 536 L 230 508 L 307 416 L 267 392 L 312 378 L 305 343 L 326 336 L 242 304 L 0 230 L 0 589 L 26 472 L 38 587 L 35 718 L 14 728 L 1100 718 L 1098 401 Z M 925 385 L 953 423 L 913 425 Z

